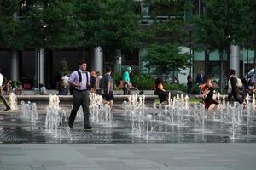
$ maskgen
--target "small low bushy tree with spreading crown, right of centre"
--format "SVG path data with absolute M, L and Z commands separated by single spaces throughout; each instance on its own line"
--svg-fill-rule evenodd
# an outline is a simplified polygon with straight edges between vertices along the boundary
M 181 48 L 176 44 L 153 44 L 149 46 L 148 53 L 143 56 L 148 69 L 154 69 L 160 74 L 169 74 L 179 71 L 189 65 L 189 55 L 182 54 Z

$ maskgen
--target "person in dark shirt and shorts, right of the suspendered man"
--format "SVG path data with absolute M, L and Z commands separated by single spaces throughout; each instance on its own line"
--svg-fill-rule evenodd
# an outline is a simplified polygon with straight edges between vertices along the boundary
M 106 101 L 109 102 L 110 109 L 113 108 L 113 78 L 111 77 L 112 69 L 110 67 L 107 68 L 107 73 L 104 75 L 104 94 L 103 97 Z

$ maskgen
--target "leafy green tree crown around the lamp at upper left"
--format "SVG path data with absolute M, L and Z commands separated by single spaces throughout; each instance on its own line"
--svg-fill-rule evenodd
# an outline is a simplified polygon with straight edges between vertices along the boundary
M 63 48 L 76 41 L 72 1 L 29 1 L 20 14 L 26 48 Z

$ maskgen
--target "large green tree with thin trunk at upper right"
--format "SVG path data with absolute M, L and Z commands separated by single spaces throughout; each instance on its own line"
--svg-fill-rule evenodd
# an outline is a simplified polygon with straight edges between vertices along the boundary
M 224 77 L 224 51 L 229 51 L 231 42 L 243 45 L 247 37 L 247 22 L 250 20 L 248 4 L 246 1 L 208 0 L 205 1 L 205 14 L 195 16 L 196 44 L 206 50 L 218 50 L 220 55 L 220 88 L 223 89 Z

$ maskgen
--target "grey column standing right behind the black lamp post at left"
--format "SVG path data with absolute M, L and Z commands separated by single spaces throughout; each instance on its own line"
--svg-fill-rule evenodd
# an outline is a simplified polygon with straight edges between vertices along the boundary
M 44 84 L 44 49 L 40 48 L 37 52 L 37 67 L 36 67 L 36 75 L 38 79 L 38 85 L 40 83 Z

